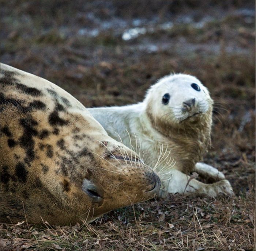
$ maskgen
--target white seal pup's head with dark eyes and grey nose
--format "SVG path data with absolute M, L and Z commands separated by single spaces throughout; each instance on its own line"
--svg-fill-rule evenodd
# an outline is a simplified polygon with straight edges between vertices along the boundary
M 182 129 L 202 124 L 207 117 L 211 118 L 213 104 L 208 89 L 188 74 L 161 78 L 148 90 L 144 102 L 147 115 L 161 132 L 170 127 Z M 211 125 L 211 119 L 209 122 Z

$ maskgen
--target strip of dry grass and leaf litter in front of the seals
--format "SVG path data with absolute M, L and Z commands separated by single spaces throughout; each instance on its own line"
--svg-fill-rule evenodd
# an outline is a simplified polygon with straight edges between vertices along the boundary
M 5 250 L 253 250 L 255 194 L 246 199 L 170 195 L 118 209 L 92 224 L 2 224 Z

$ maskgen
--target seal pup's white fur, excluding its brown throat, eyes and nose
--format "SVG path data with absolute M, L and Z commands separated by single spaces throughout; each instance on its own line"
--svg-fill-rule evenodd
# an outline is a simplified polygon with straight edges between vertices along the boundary
M 198 92 L 193 89 L 192 83 L 199 85 L 201 91 Z M 171 96 L 167 105 L 162 104 L 162 97 L 165 93 L 169 93 Z M 209 109 L 211 98 L 207 88 L 193 76 L 174 74 L 163 77 L 151 86 L 141 103 L 88 110 L 108 132 L 109 136 L 140 152 L 141 156 L 144 155 L 144 161 L 147 165 L 156 167 L 163 187 L 160 196 L 165 197 L 166 192 L 205 193 L 212 197 L 219 193 L 233 194 L 229 181 L 214 167 L 197 163 L 194 170 L 202 176 L 211 177 L 217 181 L 213 184 L 204 184 L 182 173 L 182 167 L 178 163 L 172 163 L 170 159 L 172 153 L 168 150 L 168 139 L 152 127 L 146 114 L 147 104 L 151 102 L 153 104 L 153 116 L 157 118 L 166 116 L 170 125 L 175 126 L 195 112 L 193 110 L 182 111 L 182 103 L 191 98 L 195 98 L 196 112 L 204 113 Z M 162 149 L 160 150 L 161 156 L 159 156 L 159 149 Z

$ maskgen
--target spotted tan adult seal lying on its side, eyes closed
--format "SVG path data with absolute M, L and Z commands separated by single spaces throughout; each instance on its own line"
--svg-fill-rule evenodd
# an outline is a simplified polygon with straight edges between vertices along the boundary
M 63 89 L 1 64 L 0 91 L 2 222 L 89 222 L 157 194 L 157 175 Z

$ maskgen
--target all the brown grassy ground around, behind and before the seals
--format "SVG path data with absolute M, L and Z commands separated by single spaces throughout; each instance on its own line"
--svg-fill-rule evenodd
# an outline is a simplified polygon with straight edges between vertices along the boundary
M 236 194 L 170 195 L 73 227 L 2 223 L 1 250 L 255 250 L 255 1 L 1 1 L 1 62 L 86 107 L 196 76 L 215 101 L 204 161 Z

